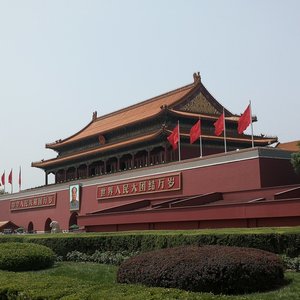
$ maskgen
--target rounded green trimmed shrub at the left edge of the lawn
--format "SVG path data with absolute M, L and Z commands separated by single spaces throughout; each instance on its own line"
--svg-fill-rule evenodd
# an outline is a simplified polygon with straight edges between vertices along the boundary
M 2 270 L 40 270 L 51 267 L 54 261 L 54 252 L 45 246 L 32 243 L 0 244 L 0 269 Z

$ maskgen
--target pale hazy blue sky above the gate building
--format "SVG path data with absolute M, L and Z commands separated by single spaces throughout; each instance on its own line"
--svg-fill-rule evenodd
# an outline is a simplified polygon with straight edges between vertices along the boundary
M 254 133 L 300 139 L 300 1 L 0 0 L 0 174 L 44 183 L 45 144 L 201 73 Z M 8 188 L 7 188 L 8 189 Z

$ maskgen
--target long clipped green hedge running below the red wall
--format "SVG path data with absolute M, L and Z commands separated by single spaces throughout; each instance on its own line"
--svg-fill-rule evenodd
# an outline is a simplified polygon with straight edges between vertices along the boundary
M 279 229 L 281 230 L 281 229 Z M 0 243 L 10 241 L 27 241 L 51 248 L 57 255 L 66 257 L 68 252 L 79 251 L 93 254 L 96 250 L 105 252 L 120 251 L 149 251 L 170 248 L 181 245 L 224 245 L 249 247 L 266 250 L 288 256 L 300 255 L 300 233 L 210 233 L 199 231 L 186 232 L 126 232 L 99 234 L 55 234 L 55 235 L 27 235 L 0 237 Z

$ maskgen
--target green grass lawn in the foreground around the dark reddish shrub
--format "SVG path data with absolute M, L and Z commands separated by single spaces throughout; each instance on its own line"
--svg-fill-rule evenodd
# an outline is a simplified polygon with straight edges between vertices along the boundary
M 300 273 L 287 272 L 288 285 L 279 290 L 242 296 L 191 293 L 115 282 L 117 267 L 93 263 L 57 263 L 36 272 L 0 271 L 0 299 L 300 299 Z

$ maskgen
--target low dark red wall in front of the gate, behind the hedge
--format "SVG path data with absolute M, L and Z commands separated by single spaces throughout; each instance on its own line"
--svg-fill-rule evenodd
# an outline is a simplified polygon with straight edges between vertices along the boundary
M 93 215 L 79 219 L 97 231 L 299 226 L 300 199 Z M 101 225 L 97 225 L 101 224 Z

